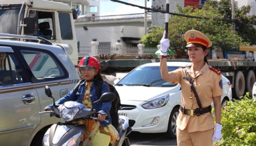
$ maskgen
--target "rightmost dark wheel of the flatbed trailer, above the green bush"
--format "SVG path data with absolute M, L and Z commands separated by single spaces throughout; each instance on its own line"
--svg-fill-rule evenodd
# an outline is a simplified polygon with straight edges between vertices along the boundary
M 248 70 L 245 74 L 245 92 L 249 92 L 252 96 L 252 88 L 255 83 L 255 74 L 253 70 Z

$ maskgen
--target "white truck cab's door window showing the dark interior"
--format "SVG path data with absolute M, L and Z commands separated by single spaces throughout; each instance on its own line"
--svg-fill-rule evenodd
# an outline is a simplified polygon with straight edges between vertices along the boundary
M 53 29 L 53 12 L 30 10 L 29 17 L 34 18 L 34 36 L 43 37 L 47 40 L 56 39 Z

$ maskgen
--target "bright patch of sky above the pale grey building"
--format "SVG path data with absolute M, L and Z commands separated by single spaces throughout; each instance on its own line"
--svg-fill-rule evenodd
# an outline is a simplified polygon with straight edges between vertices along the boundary
M 145 0 L 121 0 L 123 2 L 132 3 L 135 5 L 145 6 Z M 147 7 L 151 8 L 151 0 L 147 2 Z M 114 15 L 114 14 L 130 14 L 130 13 L 143 13 L 144 10 L 125 5 L 110 0 L 100 0 L 100 16 Z

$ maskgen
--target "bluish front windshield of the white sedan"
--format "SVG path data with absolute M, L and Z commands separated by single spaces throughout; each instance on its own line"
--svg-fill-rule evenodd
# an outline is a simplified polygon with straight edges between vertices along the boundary
M 173 71 L 178 67 L 168 67 L 169 71 Z M 139 67 L 130 72 L 121 79 L 118 85 L 128 86 L 175 86 L 171 82 L 163 81 L 159 67 Z

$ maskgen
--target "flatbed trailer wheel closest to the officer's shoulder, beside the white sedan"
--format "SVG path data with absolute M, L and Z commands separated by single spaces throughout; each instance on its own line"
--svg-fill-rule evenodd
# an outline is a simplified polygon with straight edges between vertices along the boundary
M 240 96 L 244 96 L 245 92 L 245 77 L 242 71 L 237 71 L 234 76 L 234 86 L 232 94 L 234 98 L 238 99 Z

